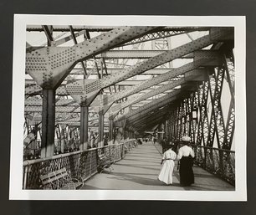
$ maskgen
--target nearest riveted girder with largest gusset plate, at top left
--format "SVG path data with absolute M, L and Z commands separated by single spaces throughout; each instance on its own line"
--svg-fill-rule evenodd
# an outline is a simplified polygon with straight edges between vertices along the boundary
M 120 27 L 73 47 L 47 47 L 26 54 L 26 72 L 43 88 L 56 89 L 80 60 L 137 38 L 156 27 Z

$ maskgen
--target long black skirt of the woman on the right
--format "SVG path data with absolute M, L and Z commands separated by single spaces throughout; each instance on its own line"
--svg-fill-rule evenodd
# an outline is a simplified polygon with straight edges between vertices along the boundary
M 192 169 L 192 156 L 182 156 L 180 161 L 180 183 L 182 186 L 190 186 L 194 183 L 194 172 Z

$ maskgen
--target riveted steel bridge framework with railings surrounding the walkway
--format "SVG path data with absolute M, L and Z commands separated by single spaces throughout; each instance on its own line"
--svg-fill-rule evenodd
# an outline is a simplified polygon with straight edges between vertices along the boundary
M 99 151 L 117 161 L 135 138 L 182 136 L 234 185 L 233 48 L 228 27 L 27 26 L 23 188 L 63 166 L 85 180 Z

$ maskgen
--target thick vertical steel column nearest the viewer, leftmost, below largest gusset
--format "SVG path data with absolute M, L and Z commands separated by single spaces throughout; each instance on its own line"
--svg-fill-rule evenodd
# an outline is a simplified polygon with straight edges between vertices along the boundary
M 54 156 L 55 90 L 43 89 L 41 157 Z

